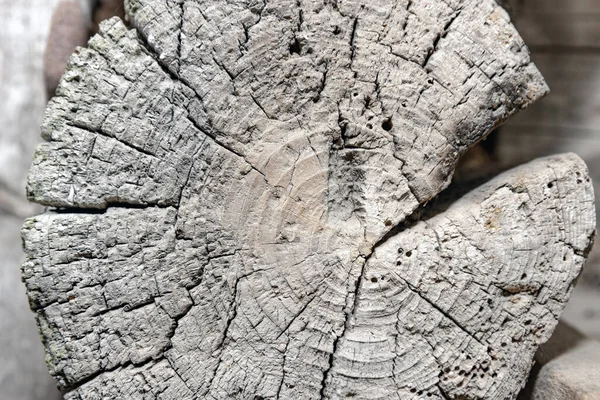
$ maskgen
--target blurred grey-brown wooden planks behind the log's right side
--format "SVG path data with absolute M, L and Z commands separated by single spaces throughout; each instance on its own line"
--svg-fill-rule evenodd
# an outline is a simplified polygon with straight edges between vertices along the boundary
M 600 1 L 508 0 L 551 94 L 503 126 L 498 158 L 516 165 L 573 151 L 600 193 Z M 590 255 L 566 320 L 600 339 L 600 247 Z

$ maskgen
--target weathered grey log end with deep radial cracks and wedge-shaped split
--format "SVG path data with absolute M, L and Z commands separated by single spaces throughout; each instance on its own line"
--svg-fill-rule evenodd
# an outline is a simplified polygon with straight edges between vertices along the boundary
M 594 230 L 585 166 L 406 225 L 547 92 L 495 2 L 126 8 L 137 30 L 71 59 L 28 182 L 59 208 L 23 273 L 68 399 L 516 395 Z

